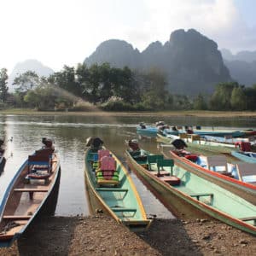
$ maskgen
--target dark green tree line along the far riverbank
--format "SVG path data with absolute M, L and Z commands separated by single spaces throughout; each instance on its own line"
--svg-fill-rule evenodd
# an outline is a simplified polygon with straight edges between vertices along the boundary
M 108 63 L 87 67 L 64 66 L 48 78 L 27 71 L 8 88 L 7 69 L 0 71 L 0 107 L 38 110 L 108 111 L 154 110 L 256 110 L 256 84 L 245 87 L 236 82 L 216 84 L 211 96 L 181 96 L 167 90 L 165 73 L 145 73 Z

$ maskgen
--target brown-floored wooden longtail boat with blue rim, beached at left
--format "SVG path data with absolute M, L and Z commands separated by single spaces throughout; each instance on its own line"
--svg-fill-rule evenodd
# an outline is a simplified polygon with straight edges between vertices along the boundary
M 48 146 L 29 155 L 20 166 L 3 195 L 0 247 L 9 247 L 39 216 L 55 212 L 61 166 L 55 148 L 46 141 Z

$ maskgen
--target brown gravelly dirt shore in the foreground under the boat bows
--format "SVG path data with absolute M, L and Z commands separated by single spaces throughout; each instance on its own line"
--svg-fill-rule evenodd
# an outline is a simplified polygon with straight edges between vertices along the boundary
M 256 237 L 208 219 L 154 219 L 136 234 L 104 214 L 52 217 L 33 223 L 2 256 L 255 255 Z

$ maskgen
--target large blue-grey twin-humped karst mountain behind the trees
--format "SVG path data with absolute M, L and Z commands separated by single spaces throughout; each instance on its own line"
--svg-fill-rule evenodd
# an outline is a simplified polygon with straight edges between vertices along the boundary
M 166 73 L 168 89 L 176 94 L 212 93 L 215 84 L 231 81 L 218 45 L 195 29 L 172 32 L 166 44 L 154 42 L 141 53 L 125 41 L 108 40 L 84 60 L 88 66 L 103 62 L 141 71 L 159 68 Z

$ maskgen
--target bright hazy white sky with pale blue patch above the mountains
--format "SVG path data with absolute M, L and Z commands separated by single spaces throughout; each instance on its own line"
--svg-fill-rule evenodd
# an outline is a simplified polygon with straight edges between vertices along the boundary
M 142 51 L 179 28 L 195 28 L 219 49 L 256 50 L 255 0 L 0 0 L 0 6 L 0 68 L 9 73 L 27 59 L 55 71 L 76 66 L 112 38 Z

